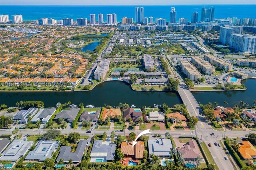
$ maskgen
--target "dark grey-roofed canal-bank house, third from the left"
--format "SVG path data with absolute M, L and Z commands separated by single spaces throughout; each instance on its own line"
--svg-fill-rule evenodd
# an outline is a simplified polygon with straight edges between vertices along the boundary
M 65 121 L 68 121 L 69 123 L 72 123 L 80 111 L 80 108 L 68 108 L 65 110 L 62 110 L 60 113 L 57 113 L 54 117 L 54 120 L 57 121 L 59 118 L 63 118 Z

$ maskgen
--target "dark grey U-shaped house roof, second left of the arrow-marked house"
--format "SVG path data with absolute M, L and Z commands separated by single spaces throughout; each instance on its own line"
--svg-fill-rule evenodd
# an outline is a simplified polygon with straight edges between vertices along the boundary
M 73 163 L 81 162 L 87 142 L 88 140 L 80 140 L 76 147 L 76 152 L 71 152 L 71 146 L 61 146 L 56 162 L 58 162 L 60 159 L 62 159 L 65 163 L 67 163 L 70 159 L 72 159 Z

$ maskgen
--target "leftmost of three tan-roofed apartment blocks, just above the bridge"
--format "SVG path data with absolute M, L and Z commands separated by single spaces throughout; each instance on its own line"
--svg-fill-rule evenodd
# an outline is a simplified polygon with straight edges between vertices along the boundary
M 180 67 L 188 79 L 196 81 L 197 79 L 201 78 L 201 73 L 189 61 L 180 61 Z

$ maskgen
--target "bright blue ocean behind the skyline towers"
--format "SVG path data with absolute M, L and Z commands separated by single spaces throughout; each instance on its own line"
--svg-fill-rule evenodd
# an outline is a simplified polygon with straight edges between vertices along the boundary
M 198 11 L 200 20 L 201 9 L 205 5 L 174 5 L 177 11 L 178 18 L 188 18 L 191 20 L 191 14 L 194 11 Z M 256 5 L 206 5 L 215 7 L 214 18 L 256 18 Z M 135 20 L 135 7 L 136 6 L 0 6 L 0 14 L 22 14 L 23 20 L 36 20 L 38 18 L 54 18 L 61 20 L 62 18 L 87 18 L 89 15 L 96 14 L 96 20 L 98 20 L 97 14 L 104 14 L 104 21 L 106 21 L 106 14 L 117 14 L 118 22 L 121 22 L 121 18 L 126 16 L 128 18 L 134 18 Z M 153 16 L 155 18 L 166 18 L 170 21 L 170 8 L 172 6 L 143 6 L 144 17 Z M 11 18 L 10 18 L 11 19 Z

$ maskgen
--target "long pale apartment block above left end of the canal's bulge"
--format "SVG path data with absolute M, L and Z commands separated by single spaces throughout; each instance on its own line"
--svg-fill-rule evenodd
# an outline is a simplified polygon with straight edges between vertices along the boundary
M 97 68 L 94 72 L 94 79 L 96 79 L 96 80 L 102 79 L 103 80 L 109 71 L 109 64 L 110 64 L 109 59 L 100 61 L 100 63 L 97 65 Z

